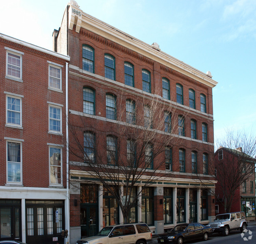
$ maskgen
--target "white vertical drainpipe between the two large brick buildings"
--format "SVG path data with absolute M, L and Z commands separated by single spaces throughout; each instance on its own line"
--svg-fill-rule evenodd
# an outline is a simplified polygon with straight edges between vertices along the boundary
M 65 243 L 69 243 L 70 242 L 70 220 L 69 220 L 69 123 L 68 123 L 68 118 L 69 118 L 69 89 L 68 89 L 68 68 L 69 68 L 69 63 L 66 62 L 66 149 L 67 149 L 67 155 L 66 155 L 66 169 L 67 169 L 67 195 L 66 195 L 66 221 L 65 221 L 65 225 L 66 225 L 66 229 L 69 231 L 69 235 L 68 238 L 65 239 Z

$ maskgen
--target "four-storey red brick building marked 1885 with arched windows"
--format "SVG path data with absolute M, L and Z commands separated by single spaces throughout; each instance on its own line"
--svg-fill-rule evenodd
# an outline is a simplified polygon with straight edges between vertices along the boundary
M 161 111 L 156 109 L 154 115 L 165 118 L 165 127 L 158 128 L 156 119 L 150 131 L 176 140 L 150 161 L 148 172 L 157 168 L 158 181 L 143 187 L 143 180 L 138 180 L 132 189 L 139 196 L 129 221 L 147 222 L 154 234 L 177 223 L 211 221 L 215 198 L 210 189 L 216 181 L 208 164 L 214 153 L 212 88 L 217 84 L 211 73 L 180 62 L 161 51 L 157 43 L 148 45 L 84 13 L 75 1 L 67 5 L 53 39 L 54 51 L 70 56 L 69 145 L 73 152 L 84 150 L 80 157 L 69 150 L 70 243 L 103 226 L 124 222 L 117 200 L 95 180 L 91 168 L 86 168 L 85 157 L 109 164 L 109 171 L 115 169 L 111 152 L 118 155 L 115 160 L 119 163 L 130 158 L 128 143 L 133 138 L 125 138 L 119 129 L 143 131 L 151 114 L 147 104 L 152 100 Z M 175 111 L 162 112 L 170 107 Z M 175 133 L 168 131 L 172 123 Z M 73 145 L 74 141 L 80 145 Z M 154 146 L 145 149 L 145 161 L 154 150 Z M 165 163 L 159 165 L 162 161 Z M 126 181 L 121 178 L 121 182 Z M 118 190 L 122 189 L 124 186 Z

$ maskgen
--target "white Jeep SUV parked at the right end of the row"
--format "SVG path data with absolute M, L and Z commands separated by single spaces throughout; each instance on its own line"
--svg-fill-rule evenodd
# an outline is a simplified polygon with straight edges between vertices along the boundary
M 234 229 L 240 229 L 243 232 L 247 227 L 247 221 L 244 212 L 224 213 L 216 215 L 214 222 L 207 226 L 210 226 L 214 232 L 227 236 L 229 231 Z

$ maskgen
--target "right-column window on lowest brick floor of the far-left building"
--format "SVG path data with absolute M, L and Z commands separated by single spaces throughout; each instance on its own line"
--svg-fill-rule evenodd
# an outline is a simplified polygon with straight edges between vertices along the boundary
M 62 186 L 62 148 L 49 146 L 50 185 Z

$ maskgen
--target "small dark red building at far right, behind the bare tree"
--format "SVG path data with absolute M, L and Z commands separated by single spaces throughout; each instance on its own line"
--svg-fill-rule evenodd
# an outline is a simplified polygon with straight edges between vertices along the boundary
M 247 220 L 255 220 L 255 158 L 243 153 L 242 148 L 230 149 L 226 147 L 220 147 L 215 152 L 215 166 L 218 183 L 216 184 L 216 213 L 226 213 L 227 197 L 225 194 L 229 194 L 228 187 L 225 187 L 223 192 L 222 185 L 228 178 L 234 178 L 236 181 L 236 171 L 239 174 L 245 174 L 245 178 L 242 184 L 235 190 L 234 198 L 232 201 L 230 212 L 244 211 Z M 237 164 L 241 164 L 237 166 Z M 224 171 L 223 176 L 222 171 Z M 222 179 L 219 179 L 221 177 Z M 235 185 L 235 182 L 233 183 Z M 224 194 L 225 193 L 225 194 Z

